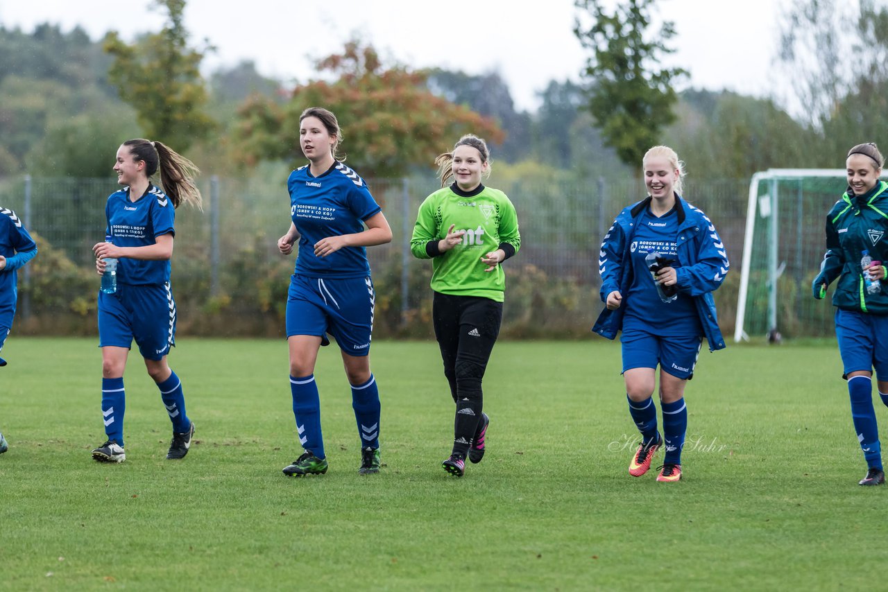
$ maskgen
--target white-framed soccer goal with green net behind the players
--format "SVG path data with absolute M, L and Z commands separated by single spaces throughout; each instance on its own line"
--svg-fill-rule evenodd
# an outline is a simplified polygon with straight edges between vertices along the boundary
M 833 287 L 818 301 L 811 282 L 826 250 L 827 214 L 846 187 L 842 169 L 770 169 L 752 176 L 735 342 L 834 335 Z

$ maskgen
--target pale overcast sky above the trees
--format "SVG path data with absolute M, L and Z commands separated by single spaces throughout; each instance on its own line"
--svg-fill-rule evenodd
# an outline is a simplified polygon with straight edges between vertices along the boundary
M 776 21 L 784 1 L 662 0 L 654 15 L 675 23 L 677 52 L 669 63 L 689 70 L 691 85 L 763 96 L 777 78 Z M 149 10 L 151 4 L 0 0 L 0 23 L 30 31 L 50 21 L 66 31 L 80 25 L 93 39 L 109 29 L 131 39 L 163 23 L 163 12 Z M 207 39 L 217 48 L 205 60 L 208 71 L 251 59 L 264 75 L 305 82 L 314 76 L 313 58 L 357 34 L 410 67 L 498 70 L 519 109 L 535 109 L 536 93 L 549 81 L 579 79 L 585 54 L 572 32 L 574 18 L 573 0 L 188 0 L 186 6 L 193 43 Z

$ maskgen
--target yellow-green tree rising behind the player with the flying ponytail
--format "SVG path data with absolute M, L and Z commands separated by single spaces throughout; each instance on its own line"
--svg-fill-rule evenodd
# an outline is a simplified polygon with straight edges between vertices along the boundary
M 205 138 L 214 125 L 204 112 L 207 91 L 199 69 L 208 50 L 188 47 L 186 0 L 154 1 L 168 17 L 159 33 L 136 43 L 123 43 L 115 31 L 105 37 L 105 51 L 114 57 L 108 78 L 136 109 L 147 138 L 180 151 Z

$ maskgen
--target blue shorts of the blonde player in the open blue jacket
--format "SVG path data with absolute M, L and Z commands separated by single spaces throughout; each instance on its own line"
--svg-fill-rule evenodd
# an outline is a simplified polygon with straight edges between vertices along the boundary
M 677 378 L 690 379 L 700 356 L 702 337 L 661 337 L 645 331 L 623 331 L 622 371 L 632 368 L 661 369 Z

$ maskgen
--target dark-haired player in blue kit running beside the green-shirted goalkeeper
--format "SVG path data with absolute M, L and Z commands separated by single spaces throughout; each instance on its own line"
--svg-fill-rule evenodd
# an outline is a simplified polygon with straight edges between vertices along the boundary
M 342 131 L 336 115 L 321 107 L 299 116 L 299 146 L 308 164 L 287 180 L 291 223 L 278 240 L 289 255 L 299 240 L 296 270 L 287 298 L 289 386 L 297 437 L 304 451 L 283 469 L 302 477 L 327 472 L 321 436 L 321 404 L 314 363 L 326 334 L 336 337 L 361 438 L 361 475 L 377 473 L 379 391 L 370 372 L 370 334 L 375 294 L 365 247 L 392 241 L 392 229 L 367 184 L 337 159 Z

